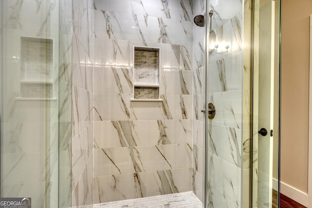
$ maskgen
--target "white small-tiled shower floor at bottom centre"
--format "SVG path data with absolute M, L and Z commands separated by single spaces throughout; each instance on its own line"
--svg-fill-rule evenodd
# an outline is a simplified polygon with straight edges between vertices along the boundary
M 190 192 L 129 199 L 97 204 L 94 208 L 202 208 L 201 201 Z

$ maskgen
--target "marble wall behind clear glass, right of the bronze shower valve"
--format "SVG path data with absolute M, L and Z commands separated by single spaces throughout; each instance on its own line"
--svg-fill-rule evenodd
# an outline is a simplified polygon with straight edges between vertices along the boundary
M 242 112 L 243 112 L 243 5 L 231 1 L 232 10 L 212 1 L 212 30 L 216 42 L 230 46 L 228 53 L 209 55 L 208 102 L 216 108 L 208 121 L 209 207 L 242 207 Z M 232 13 L 232 14 L 231 14 Z M 212 47 L 211 44 L 209 47 Z

